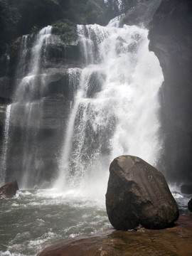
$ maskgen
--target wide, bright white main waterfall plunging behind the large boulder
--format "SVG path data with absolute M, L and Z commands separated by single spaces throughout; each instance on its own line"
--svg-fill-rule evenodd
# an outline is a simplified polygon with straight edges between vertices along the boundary
M 106 27 L 78 26 L 85 68 L 65 131 L 57 188 L 95 187 L 98 193 L 107 186 L 114 157 L 131 154 L 155 166 L 161 154 L 159 61 L 149 52 L 146 29 L 117 24 L 116 18 Z

